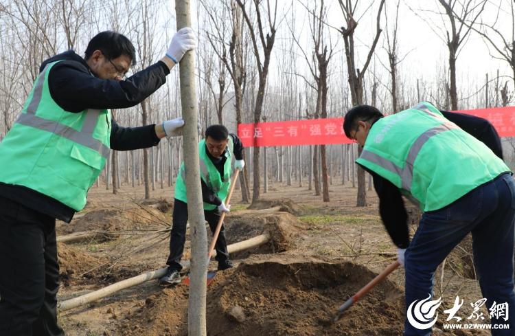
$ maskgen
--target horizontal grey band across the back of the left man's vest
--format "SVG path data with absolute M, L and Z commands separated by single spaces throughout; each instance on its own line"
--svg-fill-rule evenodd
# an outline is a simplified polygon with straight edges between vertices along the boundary
M 91 137 L 91 133 L 81 133 L 71 127 L 59 124 L 58 122 L 46 120 L 42 117 L 38 117 L 37 115 L 27 113 L 21 113 L 16 122 L 25 126 L 38 128 L 42 131 L 51 132 L 56 135 L 60 135 L 61 137 L 65 137 L 66 139 L 76 142 L 77 144 L 81 144 L 82 146 L 86 146 L 95 150 L 104 158 L 107 158 L 109 155 L 110 149 L 102 144 L 100 140 Z

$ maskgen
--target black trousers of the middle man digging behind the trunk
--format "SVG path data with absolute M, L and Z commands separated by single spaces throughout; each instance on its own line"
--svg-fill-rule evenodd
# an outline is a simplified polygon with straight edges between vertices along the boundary
M 172 214 L 172 232 L 170 233 L 170 256 L 166 260 L 166 265 L 170 269 L 181 271 L 181 258 L 183 258 L 184 243 L 186 242 L 186 222 L 187 222 L 187 204 L 178 199 L 174 199 L 174 212 Z M 204 216 L 211 232 L 215 232 L 220 214 L 218 210 L 204 210 Z M 225 227 L 222 225 L 220 234 L 216 240 L 216 260 L 224 262 L 229 259 L 229 252 L 227 251 L 227 241 L 225 240 Z

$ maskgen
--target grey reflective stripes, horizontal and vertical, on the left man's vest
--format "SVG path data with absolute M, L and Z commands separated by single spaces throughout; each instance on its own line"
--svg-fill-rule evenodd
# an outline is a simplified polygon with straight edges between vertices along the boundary
M 38 109 L 39 103 L 41 102 L 41 97 L 43 96 L 43 84 L 45 83 L 45 73 L 47 67 L 45 67 L 45 69 L 43 69 L 41 74 L 38 76 L 38 81 L 36 83 L 36 88 L 34 89 L 34 94 L 32 95 L 32 100 L 27 107 L 27 113 L 21 113 L 18 120 L 16 120 L 16 123 L 38 128 L 41 131 L 54 133 L 60 137 L 65 137 L 72 142 L 76 142 L 77 144 L 81 144 L 82 146 L 86 146 L 95 150 L 95 152 L 100 153 L 104 159 L 107 159 L 111 149 L 102 144 L 100 140 L 93 137 L 93 131 L 95 130 L 95 126 L 100 115 L 100 110 L 87 110 L 81 131 L 76 131 L 69 126 L 65 126 L 63 124 L 59 124 L 58 122 L 54 122 L 53 120 L 47 120 L 36 116 L 36 110 Z

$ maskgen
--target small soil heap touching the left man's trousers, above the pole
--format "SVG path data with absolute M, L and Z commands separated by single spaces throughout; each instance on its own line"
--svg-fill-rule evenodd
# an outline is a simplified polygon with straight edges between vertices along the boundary
M 57 244 L 60 282 L 69 285 L 72 280 L 80 278 L 82 273 L 102 265 L 106 260 L 76 249 L 64 243 Z

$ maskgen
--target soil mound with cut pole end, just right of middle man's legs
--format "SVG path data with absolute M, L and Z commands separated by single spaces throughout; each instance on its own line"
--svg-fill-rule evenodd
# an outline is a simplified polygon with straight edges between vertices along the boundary
M 299 228 L 306 226 L 288 212 L 247 212 L 231 214 L 225 219 L 227 244 L 238 243 L 260 234 L 270 234 L 265 245 L 234 254 L 231 258 L 247 258 L 250 254 L 271 254 L 290 249 Z

